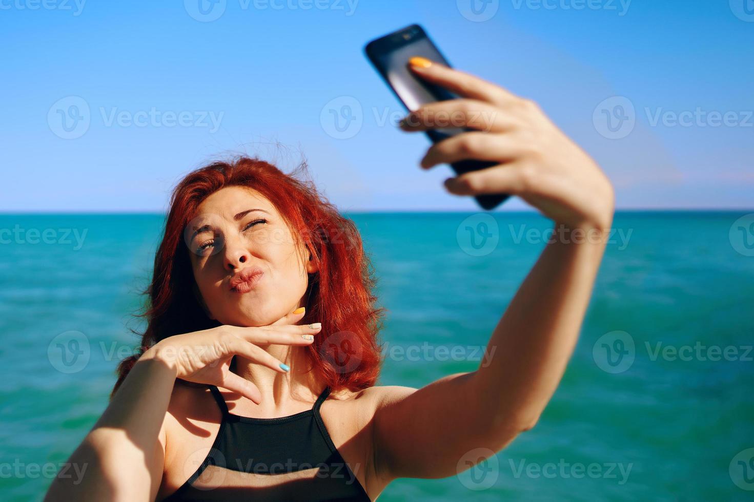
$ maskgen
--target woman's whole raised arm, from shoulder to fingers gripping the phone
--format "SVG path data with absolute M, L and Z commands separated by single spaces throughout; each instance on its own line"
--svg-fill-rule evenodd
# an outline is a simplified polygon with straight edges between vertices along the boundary
M 433 145 L 421 166 L 499 162 L 446 180 L 446 188 L 517 195 L 552 219 L 556 231 L 492 332 L 486 364 L 419 390 L 383 387 L 374 394 L 380 484 L 452 476 L 471 450 L 499 451 L 534 426 L 578 339 L 614 210 L 608 179 L 535 103 L 437 63 L 413 63 L 422 78 L 462 97 L 422 106 L 403 130 L 447 127 L 449 119 L 478 130 Z

